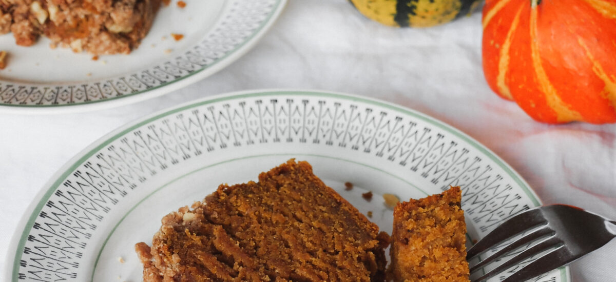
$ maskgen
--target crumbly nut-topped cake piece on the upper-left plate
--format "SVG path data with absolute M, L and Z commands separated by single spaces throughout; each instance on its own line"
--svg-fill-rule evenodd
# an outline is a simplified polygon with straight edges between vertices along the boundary
M 0 34 L 20 46 L 44 34 L 52 46 L 95 55 L 129 54 L 168 0 L 0 0 Z

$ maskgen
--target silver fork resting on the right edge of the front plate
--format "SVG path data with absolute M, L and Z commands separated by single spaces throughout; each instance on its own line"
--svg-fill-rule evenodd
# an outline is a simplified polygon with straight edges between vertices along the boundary
M 539 257 L 501 282 L 526 281 L 562 265 L 569 264 L 573 260 L 601 248 L 601 246 L 615 238 L 616 221 L 584 211 L 579 207 L 561 204 L 536 207 L 511 217 L 511 219 L 506 220 L 499 227 L 488 233 L 488 235 L 468 250 L 466 260 L 470 261 L 488 249 L 498 246 L 503 241 L 529 230 L 532 230 L 532 232 L 506 245 L 471 267 L 471 273 L 525 244 L 538 241 L 537 244 L 521 251 L 513 258 L 472 281 L 486 280 L 507 270 L 509 267 L 513 267 L 524 259 L 529 259 L 533 255 L 553 248 L 554 250 Z

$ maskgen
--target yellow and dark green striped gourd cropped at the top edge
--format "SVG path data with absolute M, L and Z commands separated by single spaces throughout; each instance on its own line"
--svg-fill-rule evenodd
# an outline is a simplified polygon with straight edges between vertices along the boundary
M 349 0 L 371 20 L 389 26 L 428 27 L 470 15 L 480 0 Z

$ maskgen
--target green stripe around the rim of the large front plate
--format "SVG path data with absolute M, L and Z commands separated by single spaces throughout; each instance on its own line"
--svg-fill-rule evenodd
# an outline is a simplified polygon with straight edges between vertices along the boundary
M 222 97 L 214 97 L 211 99 L 202 100 L 200 102 L 189 103 L 187 105 L 180 106 L 172 110 L 164 111 L 163 113 L 160 113 L 158 115 L 155 114 L 151 118 L 146 118 L 144 121 L 140 121 L 128 127 L 127 129 L 124 129 L 118 134 L 113 135 L 109 139 L 104 140 L 97 147 L 88 151 L 86 154 L 84 154 L 84 156 L 82 156 L 75 163 L 73 163 L 67 169 L 67 171 L 63 172 L 62 175 L 60 175 L 60 177 L 57 180 L 55 180 L 55 182 L 51 185 L 51 187 L 49 187 L 46 193 L 44 193 L 41 200 L 39 200 L 39 203 L 36 205 L 36 207 L 34 207 L 34 210 L 30 214 L 30 217 L 28 217 L 28 221 L 25 224 L 25 227 L 22 232 L 22 236 L 19 240 L 19 243 L 17 244 L 17 250 L 15 251 L 12 281 L 18 282 L 18 272 L 19 272 L 19 267 L 20 267 L 20 264 L 18 262 L 22 259 L 22 252 L 25 246 L 26 237 L 32 229 L 34 220 L 38 216 L 39 212 L 41 212 L 41 210 L 43 209 L 43 206 L 45 205 L 45 203 L 47 203 L 47 200 L 49 199 L 49 197 L 55 192 L 55 190 L 57 190 L 57 188 L 60 186 L 63 180 L 66 179 L 69 174 L 75 171 L 77 167 L 81 166 L 81 164 L 83 164 L 84 161 L 86 161 L 86 159 L 93 156 L 96 152 L 100 151 L 103 147 L 109 145 L 111 142 L 114 142 L 115 140 L 120 139 L 120 137 L 122 137 L 123 135 L 128 134 L 129 132 L 134 131 L 135 129 L 141 126 L 144 126 L 145 124 L 151 123 L 155 121 L 156 119 L 160 119 L 165 116 L 172 115 L 179 111 L 184 111 L 190 108 L 200 107 L 202 105 L 208 105 L 211 103 L 217 103 L 217 102 L 222 102 L 222 101 L 227 101 L 227 100 L 237 100 L 237 99 L 243 99 L 243 98 L 248 98 L 248 97 L 264 97 L 264 96 L 272 96 L 272 95 L 290 95 L 290 96 L 306 95 L 306 96 L 312 96 L 312 97 L 328 97 L 328 98 L 333 98 L 333 99 L 351 100 L 354 102 L 362 102 L 362 103 L 367 103 L 371 105 L 376 105 L 378 107 L 388 108 L 389 110 L 397 111 L 405 115 L 413 116 L 413 118 L 421 119 L 425 121 L 426 123 L 440 127 L 440 129 L 442 129 L 443 131 L 447 131 L 455 135 L 456 137 L 467 142 L 472 147 L 484 153 L 484 155 L 488 156 L 490 159 L 492 159 L 494 163 L 498 164 L 498 166 L 500 166 L 501 169 L 503 169 L 503 171 L 505 171 L 517 183 L 517 185 L 519 185 L 519 187 L 522 188 L 524 193 L 530 198 L 530 200 L 533 202 L 535 206 L 539 206 L 541 204 L 537 196 L 535 196 L 535 194 L 530 189 L 530 187 L 526 185 L 524 180 L 522 180 L 521 177 L 519 177 L 516 174 L 516 172 L 514 172 L 513 169 L 511 169 L 511 167 L 509 167 L 508 164 L 505 163 L 505 161 L 501 160 L 498 156 L 492 153 L 492 151 L 488 150 L 487 148 L 484 147 L 484 145 L 481 145 L 479 142 L 476 142 L 474 139 L 464 134 L 463 132 L 459 131 L 458 129 L 455 129 L 455 127 L 449 126 L 448 124 L 445 124 L 442 121 L 439 121 L 435 118 L 424 115 L 423 113 L 419 113 L 418 111 L 411 110 L 409 108 L 404 108 L 404 107 L 394 105 L 389 102 L 380 101 L 380 100 L 373 100 L 373 99 L 367 99 L 367 98 L 354 96 L 350 94 L 341 94 L 341 93 L 332 93 L 332 92 L 281 90 L 281 91 L 264 91 L 264 92 L 256 91 L 256 92 L 246 92 L 243 94 L 229 94 L 229 95 L 222 94 Z M 565 267 L 561 267 L 562 279 L 564 281 L 569 281 L 566 279 L 567 278 L 566 273 L 567 271 L 565 270 Z

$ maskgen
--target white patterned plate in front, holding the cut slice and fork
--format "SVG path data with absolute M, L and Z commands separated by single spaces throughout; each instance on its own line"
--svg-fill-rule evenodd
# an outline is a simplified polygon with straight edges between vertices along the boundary
M 471 240 L 540 204 L 487 148 L 408 108 L 328 92 L 220 95 L 123 126 L 60 169 L 20 222 L 4 281 L 140 281 L 133 246 L 151 242 L 165 214 L 290 158 L 309 161 L 386 232 L 383 193 L 419 198 L 460 185 Z M 533 281 L 570 281 L 569 268 Z

